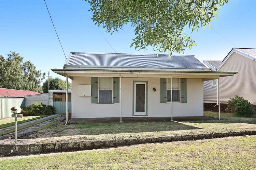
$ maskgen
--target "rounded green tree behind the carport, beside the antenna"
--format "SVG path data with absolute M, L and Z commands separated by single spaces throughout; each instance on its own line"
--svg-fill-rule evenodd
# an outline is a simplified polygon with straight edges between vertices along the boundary
M 49 90 L 66 90 L 66 81 L 60 78 L 49 78 Z M 71 83 L 68 82 L 68 90 L 71 90 Z M 48 79 L 43 83 L 43 92 L 48 92 Z

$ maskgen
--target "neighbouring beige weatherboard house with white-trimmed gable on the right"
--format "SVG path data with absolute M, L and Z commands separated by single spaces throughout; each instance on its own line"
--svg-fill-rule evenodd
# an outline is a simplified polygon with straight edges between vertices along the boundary
M 256 108 L 256 49 L 233 48 L 223 61 L 204 60 L 212 71 L 236 71 L 231 77 L 219 78 L 219 102 L 224 111 L 227 101 L 235 95 L 243 97 Z M 205 109 L 218 110 L 217 80 L 204 82 L 203 102 Z M 215 106 L 215 107 L 214 107 Z

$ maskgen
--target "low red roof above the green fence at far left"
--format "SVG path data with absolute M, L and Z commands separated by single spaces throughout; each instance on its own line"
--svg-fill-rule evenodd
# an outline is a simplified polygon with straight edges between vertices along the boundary
M 0 88 L 0 97 L 24 97 L 27 95 L 37 95 L 37 94 L 40 94 L 40 93 L 35 91 Z

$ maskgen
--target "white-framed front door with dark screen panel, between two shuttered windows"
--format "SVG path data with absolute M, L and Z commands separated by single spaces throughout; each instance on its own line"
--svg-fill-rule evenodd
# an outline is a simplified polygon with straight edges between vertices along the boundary
M 146 115 L 146 83 L 134 82 L 134 116 Z

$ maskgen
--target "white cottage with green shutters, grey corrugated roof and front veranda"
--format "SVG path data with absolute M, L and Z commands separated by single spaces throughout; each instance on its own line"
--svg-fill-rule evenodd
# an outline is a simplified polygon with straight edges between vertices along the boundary
M 211 71 L 193 55 L 70 53 L 54 72 L 72 80 L 72 118 L 203 116 Z

